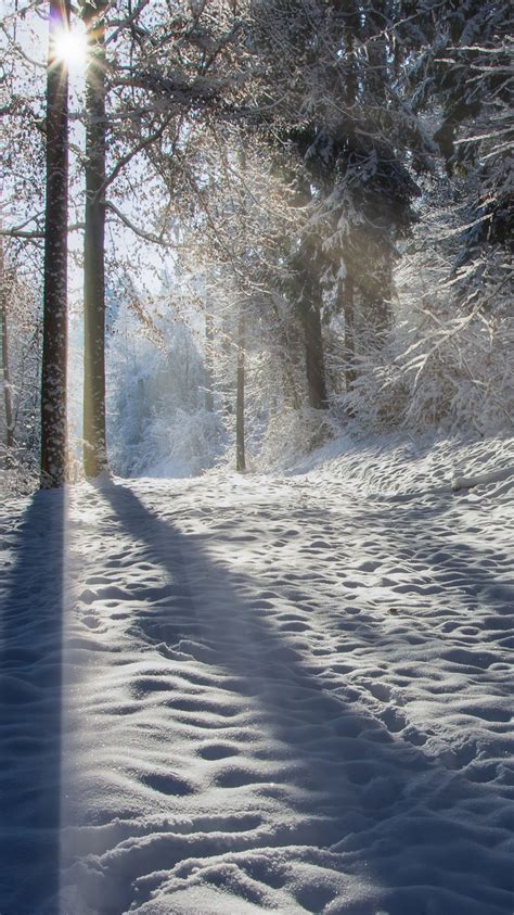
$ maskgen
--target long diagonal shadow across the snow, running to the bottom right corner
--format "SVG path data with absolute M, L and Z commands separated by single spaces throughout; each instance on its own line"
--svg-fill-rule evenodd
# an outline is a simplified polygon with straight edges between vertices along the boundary
M 156 518 L 129 488 L 106 486 L 102 494 L 115 512 L 110 520 L 145 544 L 145 556 L 169 581 L 157 600 L 149 588 L 153 606 L 138 611 L 139 633 L 169 657 L 191 653 L 223 671 L 231 689 L 258 703 L 261 727 L 281 742 L 282 758 L 291 762 L 284 777 L 298 790 L 284 800 L 280 786 L 262 784 L 260 795 L 280 796 L 304 817 L 305 828 L 292 831 L 291 844 L 335 849 L 340 867 L 354 874 L 364 862 L 365 879 L 383 889 L 381 903 L 395 913 L 398 905 L 438 915 L 510 913 L 509 861 L 503 851 L 490 850 L 493 841 L 503 842 L 504 830 L 492 836 L 488 829 L 481 841 L 473 825 L 453 816 L 454 799 L 480 800 L 481 786 L 448 773 L 439 760 L 390 733 L 359 704 L 351 684 L 339 677 L 337 691 L 330 691 L 318 675 L 320 659 L 306 660 L 298 637 L 292 644 L 291 634 L 273 625 L 266 592 L 262 600 L 245 598 L 250 576 L 214 563 L 203 536 L 185 535 Z M 208 582 L 207 601 L 201 580 Z M 144 589 L 138 598 L 144 600 Z M 380 657 L 378 639 L 374 650 Z M 172 708 L 171 702 L 171 714 Z M 230 777 L 223 787 L 245 784 L 243 772 L 233 768 Z M 431 798 L 441 787 L 449 796 L 437 809 Z M 428 854 L 427 836 L 440 846 L 438 856 Z M 445 870 L 448 854 L 458 860 L 454 873 Z

